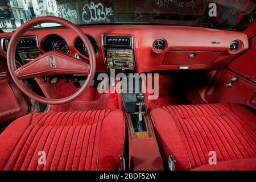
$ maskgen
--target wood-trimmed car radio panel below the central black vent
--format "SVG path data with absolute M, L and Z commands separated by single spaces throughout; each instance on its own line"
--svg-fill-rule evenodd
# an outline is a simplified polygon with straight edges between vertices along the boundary
M 108 48 L 107 68 L 134 69 L 133 49 Z

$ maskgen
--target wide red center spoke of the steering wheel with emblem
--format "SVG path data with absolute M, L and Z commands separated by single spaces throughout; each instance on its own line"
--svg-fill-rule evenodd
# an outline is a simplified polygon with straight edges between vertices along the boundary
M 19 79 L 55 75 L 88 75 L 90 65 L 59 51 L 50 51 L 14 71 Z

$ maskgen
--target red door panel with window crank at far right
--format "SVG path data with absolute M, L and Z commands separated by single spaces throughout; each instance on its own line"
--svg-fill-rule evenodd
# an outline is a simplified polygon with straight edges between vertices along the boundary
M 249 49 L 218 71 L 206 93 L 208 102 L 233 102 L 256 109 L 256 36 L 249 40 Z M 237 77 L 231 88 L 226 84 Z

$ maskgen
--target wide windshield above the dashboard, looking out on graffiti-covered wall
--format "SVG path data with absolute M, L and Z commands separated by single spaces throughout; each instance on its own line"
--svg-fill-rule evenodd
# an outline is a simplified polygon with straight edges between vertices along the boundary
M 15 31 L 38 16 L 80 24 L 170 24 L 242 31 L 256 16 L 255 0 L 0 0 L 1 29 Z M 57 24 L 39 24 L 33 28 Z

